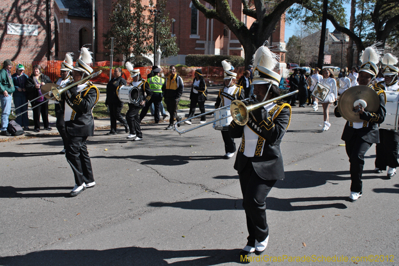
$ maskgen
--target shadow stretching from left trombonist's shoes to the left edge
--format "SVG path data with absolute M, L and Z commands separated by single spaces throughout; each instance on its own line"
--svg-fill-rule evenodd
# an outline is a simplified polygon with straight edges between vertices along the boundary
M 60 198 L 68 197 L 72 187 L 14 188 L 0 186 L 0 198 Z M 68 193 L 21 193 L 27 191 L 68 190 Z

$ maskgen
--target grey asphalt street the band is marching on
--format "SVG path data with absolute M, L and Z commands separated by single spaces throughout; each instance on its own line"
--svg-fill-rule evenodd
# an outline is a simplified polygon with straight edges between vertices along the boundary
M 332 126 L 322 132 L 321 106 L 293 107 L 281 144 L 285 179 L 267 198 L 269 243 L 265 256 L 251 257 L 263 261 L 251 265 L 398 265 L 398 176 L 373 173 L 373 145 L 363 196 L 348 202 L 345 120 L 330 111 Z M 167 125 L 142 125 L 140 142 L 96 130 L 88 141 L 96 186 L 74 198 L 67 197 L 74 178 L 58 154 L 58 135 L 1 142 L 0 265 L 244 263 L 235 156 L 223 159 L 221 134 L 210 125 L 183 135 Z M 274 257 L 284 261 L 270 262 Z M 317 262 L 323 257 L 340 262 Z

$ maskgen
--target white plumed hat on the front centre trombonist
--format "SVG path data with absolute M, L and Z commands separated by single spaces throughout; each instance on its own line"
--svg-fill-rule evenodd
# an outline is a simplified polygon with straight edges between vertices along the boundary
M 272 83 L 277 87 L 280 85 L 281 76 L 274 72 L 280 56 L 265 46 L 267 41 L 260 46 L 253 55 L 253 79 L 251 85 Z

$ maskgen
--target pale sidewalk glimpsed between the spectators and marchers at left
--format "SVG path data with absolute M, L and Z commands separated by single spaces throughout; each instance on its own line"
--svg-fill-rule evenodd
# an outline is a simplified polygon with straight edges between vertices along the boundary
M 106 88 L 106 85 L 103 85 L 103 84 L 95 84 L 95 85 L 101 89 Z M 183 95 L 181 97 L 182 100 L 188 100 L 188 101 L 190 100 L 190 89 L 191 89 L 190 87 L 185 87 Z M 205 102 L 205 112 L 208 112 L 208 111 L 211 111 L 214 109 L 214 103 L 216 101 L 216 97 L 219 92 L 219 89 L 220 89 L 220 87 L 208 87 L 208 100 Z M 99 101 L 105 101 L 105 98 L 106 98 L 106 94 L 100 93 Z M 49 104 L 54 104 L 54 101 L 49 101 Z M 31 108 L 30 104 L 28 106 L 29 106 L 29 108 Z M 164 106 L 164 107 L 166 109 L 166 106 Z M 14 103 L 12 102 L 11 110 L 13 110 L 14 108 L 15 108 Z M 178 116 L 182 116 L 182 118 L 187 117 L 187 115 L 189 114 L 189 111 L 190 111 L 189 109 L 178 110 Z M 166 113 L 168 114 L 168 117 L 166 117 L 166 119 L 169 120 L 168 111 L 166 111 Z M 196 109 L 196 114 L 197 113 L 200 113 L 200 110 L 198 108 Z M 32 111 L 28 111 L 28 118 L 33 120 L 33 112 Z M 33 126 L 30 126 L 29 127 L 30 130 L 25 131 L 25 134 L 23 134 L 23 136 L 33 137 L 33 136 L 41 135 L 41 134 L 58 133 L 58 130 L 55 127 L 55 121 L 56 121 L 56 118 L 54 116 L 48 115 L 48 122 L 49 122 L 49 125 L 52 128 L 52 130 L 47 131 L 47 130 L 40 129 L 40 132 L 34 132 Z M 151 113 L 148 113 L 143 119 L 143 122 L 153 122 L 153 121 L 154 121 L 154 116 L 152 116 Z M 165 123 L 165 126 L 168 125 L 167 122 L 164 122 L 164 123 Z M 42 127 L 42 123 L 40 123 L 40 124 Z M 110 126 L 110 120 L 109 120 L 109 118 L 94 119 L 94 125 L 96 128 Z M 0 135 L 0 139 L 5 139 L 5 138 L 13 138 L 13 136 L 6 137 L 6 136 Z

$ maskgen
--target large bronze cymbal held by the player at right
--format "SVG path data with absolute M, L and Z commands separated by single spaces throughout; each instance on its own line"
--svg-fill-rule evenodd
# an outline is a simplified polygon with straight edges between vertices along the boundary
M 364 120 L 359 118 L 359 113 L 353 111 L 353 104 L 357 100 L 366 101 L 367 107 L 365 111 L 368 112 L 375 113 L 380 106 L 380 98 L 374 89 L 364 85 L 350 87 L 341 94 L 338 102 L 338 111 L 349 122 L 364 122 Z

